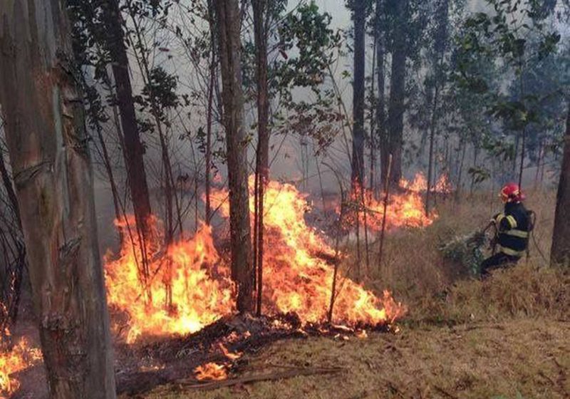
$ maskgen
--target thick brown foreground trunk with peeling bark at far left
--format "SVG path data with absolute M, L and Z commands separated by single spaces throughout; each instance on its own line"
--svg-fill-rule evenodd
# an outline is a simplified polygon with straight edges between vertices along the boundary
M 115 398 L 82 96 L 66 6 L 1 0 L 0 103 L 52 398 Z

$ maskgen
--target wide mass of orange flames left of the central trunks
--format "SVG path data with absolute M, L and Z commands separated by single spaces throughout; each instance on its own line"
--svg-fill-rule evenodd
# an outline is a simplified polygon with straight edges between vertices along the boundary
M 128 226 L 134 225 L 134 218 L 115 224 L 130 237 Z M 160 242 L 160 227 L 156 221 L 153 226 L 152 239 Z M 136 237 L 125 239 L 118 259 L 105 257 L 108 303 L 130 317 L 128 343 L 142 333 L 193 333 L 234 311 L 234 285 L 214 247 L 211 227 L 202 226 L 195 237 L 175 242 L 166 252 L 160 252 L 157 242 L 147 244 L 146 284 L 140 279 L 142 257 Z

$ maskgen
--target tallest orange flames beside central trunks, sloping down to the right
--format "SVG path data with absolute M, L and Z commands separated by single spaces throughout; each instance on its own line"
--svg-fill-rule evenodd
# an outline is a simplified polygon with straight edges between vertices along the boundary
M 249 178 L 253 190 L 254 178 Z M 224 217 L 229 216 L 225 190 L 212 195 Z M 250 195 L 250 211 L 254 211 Z M 331 301 L 333 268 L 319 254 L 334 257 L 331 246 L 309 227 L 304 214 L 309 210 L 306 195 L 296 187 L 271 181 L 265 190 L 264 205 L 264 313 L 294 312 L 305 323 L 326 320 Z M 253 219 L 253 218 L 252 218 Z M 403 314 L 388 291 L 382 299 L 345 279 L 338 284 L 333 322 L 356 325 L 390 323 Z

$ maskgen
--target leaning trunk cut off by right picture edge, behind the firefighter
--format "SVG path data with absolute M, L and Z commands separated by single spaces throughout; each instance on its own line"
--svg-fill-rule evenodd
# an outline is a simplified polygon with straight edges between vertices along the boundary
M 564 139 L 564 157 L 556 197 L 550 263 L 568 266 L 570 264 L 570 109 Z

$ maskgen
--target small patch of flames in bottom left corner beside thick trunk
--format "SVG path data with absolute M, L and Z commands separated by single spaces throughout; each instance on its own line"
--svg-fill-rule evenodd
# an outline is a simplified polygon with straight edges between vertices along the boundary
M 9 331 L 6 331 L 9 336 Z M 26 338 L 21 338 L 10 351 L 0 353 L 0 398 L 11 395 L 20 387 L 14 373 L 24 371 L 41 360 L 41 351 L 32 348 Z

